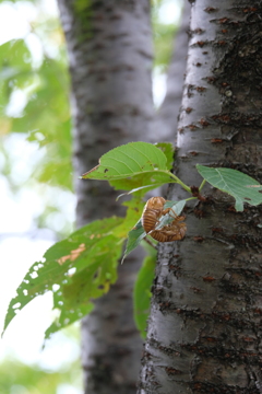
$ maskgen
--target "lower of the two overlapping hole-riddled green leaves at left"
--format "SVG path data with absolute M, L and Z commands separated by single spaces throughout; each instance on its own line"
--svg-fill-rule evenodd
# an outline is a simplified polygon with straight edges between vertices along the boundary
M 118 245 L 118 240 L 112 235 L 105 236 L 93 246 L 87 256 L 88 264 L 85 264 L 85 267 L 82 265 L 81 269 L 78 268 L 61 287 L 60 294 L 53 293 L 53 308 L 60 309 L 61 314 L 47 329 L 46 337 L 93 310 L 90 300 L 104 296 L 110 285 L 116 282 L 120 255 L 121 245 Z

